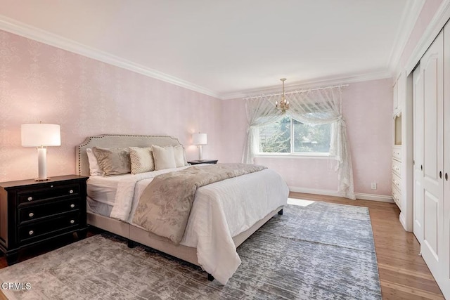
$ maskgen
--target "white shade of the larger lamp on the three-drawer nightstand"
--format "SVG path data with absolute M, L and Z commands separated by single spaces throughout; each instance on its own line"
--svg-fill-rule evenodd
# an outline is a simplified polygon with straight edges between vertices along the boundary
M 60 146 L 61 126 L 57 124 L 22 124 L 23 147 Z

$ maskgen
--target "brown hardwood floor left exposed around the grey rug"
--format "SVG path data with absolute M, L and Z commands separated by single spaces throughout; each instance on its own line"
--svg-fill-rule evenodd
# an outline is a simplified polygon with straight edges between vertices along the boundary
M 444 299 L 425 261 L 418 255 L 420 245 L 416 237 L 404 231 L 401 226 L 400 211 L 395 204 L 302 193 L 290 193 L 290 197 L 368 207 L 383 299 Z M 88 236 L 97 233 L 97 230 L 89 230 Z M 44 254 L 76 240 L 72 235 L 68 235 L 39 247 L 25 249 L 20 252 L 19 261 Z M 4 267 L 6 267 L 6 259 L 1 256 L 0 268 Z M 1 291 L 0 299 L 4 299 Z

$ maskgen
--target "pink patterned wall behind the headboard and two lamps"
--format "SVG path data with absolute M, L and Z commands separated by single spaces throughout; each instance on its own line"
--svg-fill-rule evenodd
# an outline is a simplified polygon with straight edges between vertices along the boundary
M 37 151 L 20 145 L 20 124 L 61 125 L 48 175 L 75 174 L 75 145 L 101 133 L 169 135 L 188 159 L 191 133 L 208 133 L 219 158 L 221 102 L 195 91 L 0 31 L 0 181 L 37 176 Z

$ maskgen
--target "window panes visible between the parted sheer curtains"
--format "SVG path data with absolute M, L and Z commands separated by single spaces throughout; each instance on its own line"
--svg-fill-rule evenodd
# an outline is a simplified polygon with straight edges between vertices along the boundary
M 291 117 L 259 128 L 260 153 L 330 152 L 331 124 L 306 124 Z

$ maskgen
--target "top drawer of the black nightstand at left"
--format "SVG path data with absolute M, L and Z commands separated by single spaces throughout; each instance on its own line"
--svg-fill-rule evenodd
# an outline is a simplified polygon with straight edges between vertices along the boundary
M 39 200 L 54 200 L 59 197 L 70 197 L 79 194 L 78 184 L 49 185 L 46 188 L 26 190 L 18 193 L 19 203 L 30 203 Z

